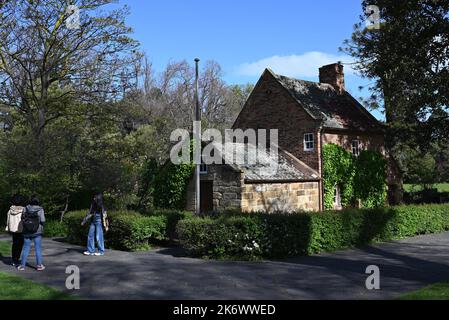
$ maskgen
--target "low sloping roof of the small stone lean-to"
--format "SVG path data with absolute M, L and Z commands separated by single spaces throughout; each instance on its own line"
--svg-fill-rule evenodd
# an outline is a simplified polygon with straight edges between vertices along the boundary
M 257 147 L 244 143 L 213 142 L 224 163 L 243 172 L 247 182 L 317 181 L 319 174 L 288 152 L 278 149 L 277 157 L 269 151 L 258 153 Z M 236 163 L 236 156 L 241 156 Z M 258 157 L 257 157 L 258 156 Z

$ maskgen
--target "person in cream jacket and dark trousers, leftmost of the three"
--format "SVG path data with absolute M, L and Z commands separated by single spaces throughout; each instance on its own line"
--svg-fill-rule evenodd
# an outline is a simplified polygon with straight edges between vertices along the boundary
M 25 211 L 25 197 L 21 195 L 15 195 L 13 197 L 12 206 L 9 208 L 6 221 L 6 232 L 12 235 L 12 266 L 17 267 L 20 264 L 20 255 L 23 248 L 23 235 L 22 235 L 22 215 Z

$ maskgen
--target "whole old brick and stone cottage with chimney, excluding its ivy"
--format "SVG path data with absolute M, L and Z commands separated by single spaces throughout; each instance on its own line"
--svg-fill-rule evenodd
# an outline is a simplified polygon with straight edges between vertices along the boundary
M 320 211 L 324 209 L 323 145 L 335 143 L 356 156 L 364 149 L 384 154 L 383 125 L 345 90 L 343 65 L 323 66 L 319 81 L 264 71 L 233 129 L 277 129 L 279 162 L 285 167 L 279 165 L 278 174 L 269 179 L 255 175 L 254 166 L 205 167 L 201 179 L 205 211 Z M 339 208 L 338 187 L 334 193 Z M 188 199 L 192 208 L 192 188 Z

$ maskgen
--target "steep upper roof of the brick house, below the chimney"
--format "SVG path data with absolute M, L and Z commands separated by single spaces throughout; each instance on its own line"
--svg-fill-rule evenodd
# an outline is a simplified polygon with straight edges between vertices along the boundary
M 382 130 L 382 124 L 346 91 L 338 94 L 327 83 L 293 79 L 270 69 L 265 72 L 269 72 L 313 119 L 322 121 L 324 128 Z

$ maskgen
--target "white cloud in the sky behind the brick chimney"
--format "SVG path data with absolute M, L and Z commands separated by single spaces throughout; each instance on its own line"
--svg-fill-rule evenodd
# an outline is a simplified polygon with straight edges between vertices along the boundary
M 324 52 L 311 51 L 301 55 L 272 56 L 256 62 L 244 63 L 237 67 L 237 74 L 241 76 L 260 76 L 266 68 L 270 68 L 277 74 L 289 77 L 317 77 L 318 68 L 341 61 L 352 62 L 352 58 L 346 55 L 334 55 Z M 345 65 L 345 74 L 353 74 L 350 65 Z

